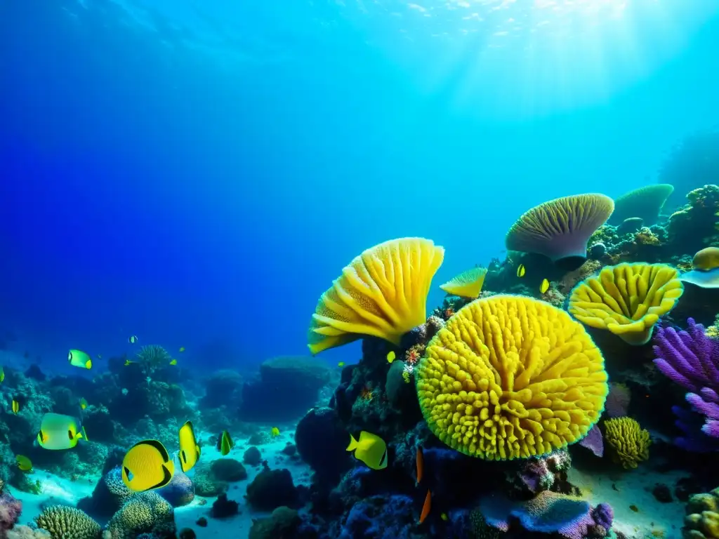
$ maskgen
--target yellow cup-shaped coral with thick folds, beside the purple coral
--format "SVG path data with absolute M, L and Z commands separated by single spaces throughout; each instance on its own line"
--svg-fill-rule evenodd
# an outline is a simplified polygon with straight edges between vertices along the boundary
M 671 266 L 618 264 L 574 287 L 568 310 L 587 326 L 608 329 L 628 344 L 645 344 L 683 292 L 679 272 Z

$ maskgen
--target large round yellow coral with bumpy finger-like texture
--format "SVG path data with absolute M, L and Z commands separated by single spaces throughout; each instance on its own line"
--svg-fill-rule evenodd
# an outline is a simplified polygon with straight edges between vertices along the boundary
M 585 328 L 549 303 L 515 295 L 460 309 L 429 342 L 415 377 L 430 430 L 486 460 L 579 441 L 608 393 L 603 356 Z

